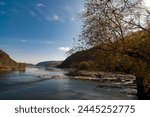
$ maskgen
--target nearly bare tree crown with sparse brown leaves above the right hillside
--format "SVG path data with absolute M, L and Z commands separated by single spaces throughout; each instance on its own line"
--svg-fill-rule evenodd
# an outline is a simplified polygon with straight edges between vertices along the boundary
M 90 48 L 100 44 L 110 46 L 114 41 L 122 42 L 132 32 L 147 30 L 149 10 L 142 0 L 85 0 L 83 29 L 79 48 Z M 149 30 L 147 30 L 149 32 Z M 113 48 L 113 46 L 110 46 Z M 77 48 L 76 48 L 77 49 Z

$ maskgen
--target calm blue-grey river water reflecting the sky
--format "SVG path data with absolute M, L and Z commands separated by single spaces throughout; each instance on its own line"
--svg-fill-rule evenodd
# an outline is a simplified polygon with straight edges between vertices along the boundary
M 39 68 L 0 73 L 0 99 L 136 99 L 130 89 L 99 87 L 99 82 L 70 79 L 64 73 Z

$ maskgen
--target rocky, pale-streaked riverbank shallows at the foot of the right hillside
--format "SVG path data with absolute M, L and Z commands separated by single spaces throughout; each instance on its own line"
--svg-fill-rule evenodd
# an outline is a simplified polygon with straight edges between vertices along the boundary
M 117 88 L 124 90 L 124 93 L 137 94 L 136 77 L 130 74 L 112 72 L 74 71 L 67 73 L 70 78 L 77 80 L 98 81 L 100 88 Z

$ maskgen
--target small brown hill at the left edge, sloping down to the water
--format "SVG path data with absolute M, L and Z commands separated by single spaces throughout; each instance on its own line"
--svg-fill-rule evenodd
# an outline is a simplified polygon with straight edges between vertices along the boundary
M 0 71 L 24 70 L 23 63 L 17 63 L 10 56 L 0 49 Z

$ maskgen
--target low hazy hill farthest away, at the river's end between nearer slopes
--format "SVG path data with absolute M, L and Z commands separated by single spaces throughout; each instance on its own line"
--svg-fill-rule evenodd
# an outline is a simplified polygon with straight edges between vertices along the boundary
M 56 67 L 60 65 L 62 61 L 44 61 L 36 64 L 36 66 L 41 66 L 41 67 Z

